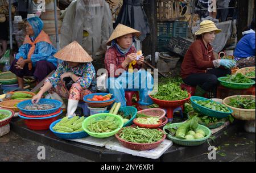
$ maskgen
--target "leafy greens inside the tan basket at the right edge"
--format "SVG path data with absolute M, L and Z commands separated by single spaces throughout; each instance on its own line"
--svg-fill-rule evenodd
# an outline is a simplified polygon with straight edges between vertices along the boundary
M 255 100 L 253 98 L 242 98 L 237 96 L 236 98 L 230 98 L 229 106 L 240 109 L 255 109 Z

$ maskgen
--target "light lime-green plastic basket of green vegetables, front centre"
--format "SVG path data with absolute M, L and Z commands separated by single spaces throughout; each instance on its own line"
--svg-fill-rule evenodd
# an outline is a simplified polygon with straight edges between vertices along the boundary
M 92 119 L 98 120 L 105 120 L 106 117 L 114 117 L 115 121 L 118 121 L 118 128 L 113 130 L 112 132 L 105 132 L 105 133 L 95 133 L 90 132 L 90 130 L 87 128 L 87 126 L 90 124 L 90 121 Z M 113 136 L 115 133 L 117 133 L 121 128 L 123 127 L 123 119 L 119 117 L 118 115 L 114 115 L 112 113 L 97 113 L 94 115 L 91 115 L 87 117 L 84 121 L 82 121 L 82 129 L 85 130 L 86 133 L 88 133 L 90 136 L 97 137 L 97 138 L 105 138 Z

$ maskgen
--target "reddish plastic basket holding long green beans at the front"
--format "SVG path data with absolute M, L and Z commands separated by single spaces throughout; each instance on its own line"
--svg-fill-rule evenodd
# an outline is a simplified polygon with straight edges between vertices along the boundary
M 161 130 L 161 129 L 158 129 L 158 130 L 163 132 L 163 130 Z M 120 130 L 119 130 L 119 132 L 120 132 Z M 119 138 L 119 133 L 115 134 L 115 137 L 123 146 L 127 147 L 128 149 L 151 150 L 151 149 L 154 149 L 155 147 L 158 147 L 161 144 L 161 142 L 163 142 L 163 140 L 166 138 L 166 134 L 164 134 L 164 132 L 163 132 L 162 140 L 151 143 L 151 144 L 139 144 L 139 143 L 135 143 L 135 142 L 129 142 L 129 141 L 122 140 L 121 138 Z

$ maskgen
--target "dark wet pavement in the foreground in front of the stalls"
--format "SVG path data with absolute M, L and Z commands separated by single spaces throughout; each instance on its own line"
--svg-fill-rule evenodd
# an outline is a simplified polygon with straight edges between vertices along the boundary
M 214 142 L 209 142 L 214 146 Z M 39 146 L 44 146 L 46 159 L 38 159 Z M 209 160 L 208 154 L 199 154 L 186 158 L 185 162 L 255 162 L 255 133 L 240 132 L 233 136 L 226 136 L 226 140 L 218 147 L 216 159 Z M 192 147 L 191 147 L 192 149 Z M 0 161 L 23 161 L 23 162 L 88 162 L 88 159 L 65 151 L 43 145 L 40 142 L 27 140 L 14 132 L 0 137 Z

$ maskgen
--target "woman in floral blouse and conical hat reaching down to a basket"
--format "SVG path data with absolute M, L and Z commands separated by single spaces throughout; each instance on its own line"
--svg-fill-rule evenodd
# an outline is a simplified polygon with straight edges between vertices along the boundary
M 72 117 L 75 116 L 79 100 L 96 92 L 93 60 L 76 41 L 59 50 L 54 56 L 63 62 L 57 66 L 55 73 L 46 79 L 43 88 L 32 98 L 32 102 L 38 103 L 46 91 L 55 91 L 62 98 L 68 99 L 67 116 Z M 64 82 L 68 79 L 73 83 L 70 89 Z

